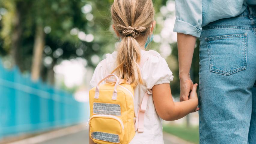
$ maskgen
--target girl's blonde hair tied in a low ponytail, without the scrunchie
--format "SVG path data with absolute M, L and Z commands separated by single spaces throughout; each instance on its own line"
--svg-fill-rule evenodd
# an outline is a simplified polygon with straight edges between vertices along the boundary
M 150 28 L 154 21 L 154 8 L 152 0 L 115 0 L 111 6 L 111 16 L 116 32 L 122 41 L 117 47 L 117 67 L 113 70 L 120 79 L 125 79 L 133 86 L 142 83 L 140 76 L 140 45 L 131 35 L 123 35 L 117 25 L 125 27 L 144 27 L 138 38 L 146 38 L 151 35 Z M 113 73 L 112 72 L 112 73 Z

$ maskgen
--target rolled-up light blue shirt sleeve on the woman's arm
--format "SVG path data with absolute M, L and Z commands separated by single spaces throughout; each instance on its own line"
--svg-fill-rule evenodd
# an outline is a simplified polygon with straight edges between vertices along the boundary
M 200 37 L 202 32 L 202 0 L 176 0 L 173 32 Z

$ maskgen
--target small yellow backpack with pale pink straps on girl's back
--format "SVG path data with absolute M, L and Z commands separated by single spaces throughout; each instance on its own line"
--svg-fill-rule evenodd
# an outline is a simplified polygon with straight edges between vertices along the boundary
M 140 67 L 146 60 L 147 58 L 142 58 Z M 111 76 L 115 79 L 109 79 Z M 101 84 L 104 80 L 106 84 Z M 148 98 L 146 91 L 140 110 L 135 115 L 133 87 L 123 83 L 114 74 L 107 75 L 89 91 L 90 138 L 97 144 L 128 144 L 135 131 L 143 132 Z

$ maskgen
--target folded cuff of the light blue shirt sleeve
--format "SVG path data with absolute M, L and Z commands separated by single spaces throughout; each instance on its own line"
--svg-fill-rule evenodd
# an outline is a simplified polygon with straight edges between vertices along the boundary
M 175 20 L 173 32 L 183 33 L 186 35 L 193 35 L 195 37 L 200 37 L 202 32 L 202 27 L 197 29 L 197 27 L 191 25 L 188 22 L 184 22 L 181 20 Z

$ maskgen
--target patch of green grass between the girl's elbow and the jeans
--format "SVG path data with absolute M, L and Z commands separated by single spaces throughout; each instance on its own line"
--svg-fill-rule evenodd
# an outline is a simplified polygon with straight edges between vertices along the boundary
M 199 143 L 198 127 L 185 127 L 182 125 L 164 125 L 163 131 L 182 138 L 191 143 Z

